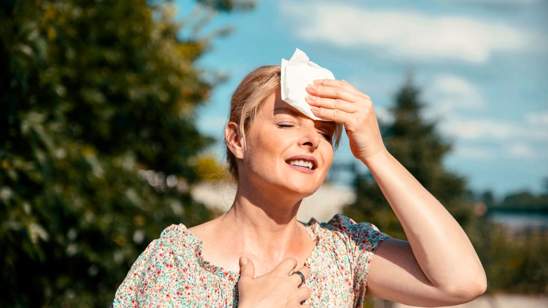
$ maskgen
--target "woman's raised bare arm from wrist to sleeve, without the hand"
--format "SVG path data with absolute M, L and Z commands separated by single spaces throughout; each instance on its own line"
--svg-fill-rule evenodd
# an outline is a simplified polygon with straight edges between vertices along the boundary
M 386 238 L 379 244 L 369 266 L 366 295 L 436 307 L 466 303 L 483 294 L 483 266 L 446 208 L 388 151 L 362 162 L 408 238 Z

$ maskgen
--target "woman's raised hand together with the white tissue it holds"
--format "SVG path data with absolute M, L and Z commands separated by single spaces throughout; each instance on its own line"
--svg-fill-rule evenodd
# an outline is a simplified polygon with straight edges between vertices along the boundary
M 322 82 L 315 84 L 315 79 Z M 309 84 L 316 88 L 307 89 Z M 348 82 L 336 80 L 299 48 L 289 61 L 282 59 L 281 92 L 283 101 L 307 117 L 344 125 L 352 154 L 366 165 L 373 157 L 382 157 L 378 153 L 387 153 L 371 98 Z

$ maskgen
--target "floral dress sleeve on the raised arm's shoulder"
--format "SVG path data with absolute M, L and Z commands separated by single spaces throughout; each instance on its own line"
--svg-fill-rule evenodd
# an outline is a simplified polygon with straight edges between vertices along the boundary
M 336 214 L 327 223 L 342 241 L 341 247 L 349 254 L 351 275 L 356 294 L 363 295 L 367 287 L 369 265 L 376 248 L 387 237 L 384 232 L 371 223 L 356 223 L 353 219 Z

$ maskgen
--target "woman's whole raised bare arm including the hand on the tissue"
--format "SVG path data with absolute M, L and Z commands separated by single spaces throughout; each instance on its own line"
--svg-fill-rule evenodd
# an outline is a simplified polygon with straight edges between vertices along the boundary
M 466 303 L 487 278 L 469 238 L 437 199 L 384 146 L 373 102 L 345 81 L 318 79 L 312 112 L 343 123 L 352 154 L 369 168 L 409 240 L 386 238 L 369 265 L 367 295 L 414 306 Z

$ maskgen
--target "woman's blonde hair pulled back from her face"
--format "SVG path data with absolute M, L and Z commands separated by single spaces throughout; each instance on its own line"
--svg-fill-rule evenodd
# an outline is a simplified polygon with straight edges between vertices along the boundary
M 242 79 L 232 94 L 228 123 L 236 122 L 238 124 L 238 134 L 242 138 L 244 150 L 247 149 L 246 130 L 254 123 L 260 107 L 272 93 L 281 91 L 281 69 L 280 65 L 258 67 Z M 339 147 L 342 132 L 343 124 L 336 123 L 332 140 L 333 150 Z M 226 158 L 229 164 L 229 175 L 238 180 L 236 157 L 228 146 L 226 147 Z

